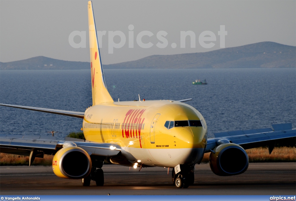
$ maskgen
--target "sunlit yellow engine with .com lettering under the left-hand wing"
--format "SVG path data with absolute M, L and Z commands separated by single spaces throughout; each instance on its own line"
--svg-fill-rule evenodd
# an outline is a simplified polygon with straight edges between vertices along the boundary
M 82 179 L 91 171 L 91 158 L 80 147 L 64 147 L 54 155 L 52 170 L 61 178 Z

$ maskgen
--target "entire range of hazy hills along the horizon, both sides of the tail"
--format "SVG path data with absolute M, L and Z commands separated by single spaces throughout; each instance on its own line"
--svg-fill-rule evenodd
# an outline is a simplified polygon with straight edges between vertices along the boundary
M 103 67 L 104 69 L 295 68 L 296 47 L 260 42 L 210 52 L 152 55 L 136 61 L 103 65 Z M 63 61 L 42 56 L 14 62 L 0 62 L 0 70 L 89 68 L 89 62 Z

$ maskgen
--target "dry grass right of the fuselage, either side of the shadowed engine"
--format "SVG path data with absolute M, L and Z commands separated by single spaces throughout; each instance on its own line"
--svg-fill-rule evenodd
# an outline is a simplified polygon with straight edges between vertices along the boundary
M 261 162 L 296 162 L 296 147 L 274 147 L 269 155 L 267 147 L 246 150 L 250 163 Z M 210 153 L 205 153 L 202 163 L 209 162 Z

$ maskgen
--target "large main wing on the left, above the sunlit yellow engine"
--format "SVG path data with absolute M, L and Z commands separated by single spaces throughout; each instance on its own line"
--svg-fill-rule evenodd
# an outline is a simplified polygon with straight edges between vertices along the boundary
M 2 153 L 25 156 L 30 156 L 31 150 L 34 150 L 36 157 L 41 158 L 44 154 L 54 155 L 59 149 L 66 146 L 77 146 L 84 149 L 89 155 L 105 157 L 116 156 L 121 152 L 121 147 L 118 144 L 98 143 L 75 138 L 66 139 L 61 141 L 53 136 L 0 134 L 0 149 Z

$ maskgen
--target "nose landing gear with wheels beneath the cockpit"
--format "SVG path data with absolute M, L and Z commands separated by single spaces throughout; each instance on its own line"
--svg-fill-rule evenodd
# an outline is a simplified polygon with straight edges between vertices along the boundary
M 177 188 L 188 188 L 188 186 L 194 184 L 194 165 L 180 165 L 181 172 L 175 173 L 172 171 L 172 181 Z

